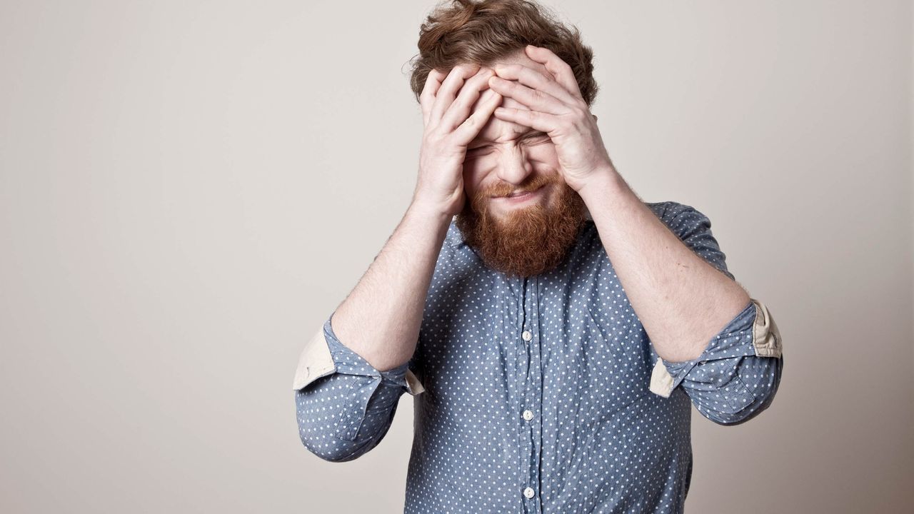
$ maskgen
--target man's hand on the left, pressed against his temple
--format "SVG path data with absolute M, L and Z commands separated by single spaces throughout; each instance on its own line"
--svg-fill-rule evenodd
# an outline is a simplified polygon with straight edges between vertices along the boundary
M 413 203 L 423 209 L 452 217 L 463 208 L 466 146 L 502 102 L 502 96 L 489 89 L 492 76 L 492 69 L 466 64 L 455 66 L 446 78 L 439 70 L 429 72 L 420 94 L 425 129 L 413 193 Z

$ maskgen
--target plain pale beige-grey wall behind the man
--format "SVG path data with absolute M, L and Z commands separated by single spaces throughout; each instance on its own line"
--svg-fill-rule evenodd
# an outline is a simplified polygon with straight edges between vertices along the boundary
M 408 207 L 432 2 L 0 5 L 0 510 L 401 511 L 409 395 L 333 464 L 292 375 Z M 910 509 L 911 3 L 547 5 L 784 338 L 768 411 L 693 411 L 687 511 Z

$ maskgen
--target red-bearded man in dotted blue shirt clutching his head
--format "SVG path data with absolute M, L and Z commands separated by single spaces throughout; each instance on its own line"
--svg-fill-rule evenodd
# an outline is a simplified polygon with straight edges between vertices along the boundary
M 303 444 L 364 455 L 407 391 L 406 512 L 681 512 L 691 405 L 729 425 L 773 400 L 771 314 L 706 216 L 612 165 L 576 30 L 458 0 L 419 47 L 415 193 L 302 353 Z

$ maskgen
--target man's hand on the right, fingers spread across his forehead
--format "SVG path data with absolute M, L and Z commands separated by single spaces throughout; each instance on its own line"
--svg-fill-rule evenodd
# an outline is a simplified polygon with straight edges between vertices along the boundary
M 497 76 L 489 86 L 529 111 L 499 107 L 494 116 L 548 134 L 556 145 L 559 173 L 576 191 L 614 174 L 596 117 L 581 97 L 571 67 L 548 48 L 527 46 L 526 55 L 542 63 L 549 76 L 520 64 L 495 66 Z

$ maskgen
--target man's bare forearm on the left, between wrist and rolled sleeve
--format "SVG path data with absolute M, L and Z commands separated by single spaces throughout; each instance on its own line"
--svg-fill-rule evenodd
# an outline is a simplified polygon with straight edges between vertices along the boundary
M 409 361 L 451 217 L 414 201 L 331 318 L 334 331 L 379 371 Z

